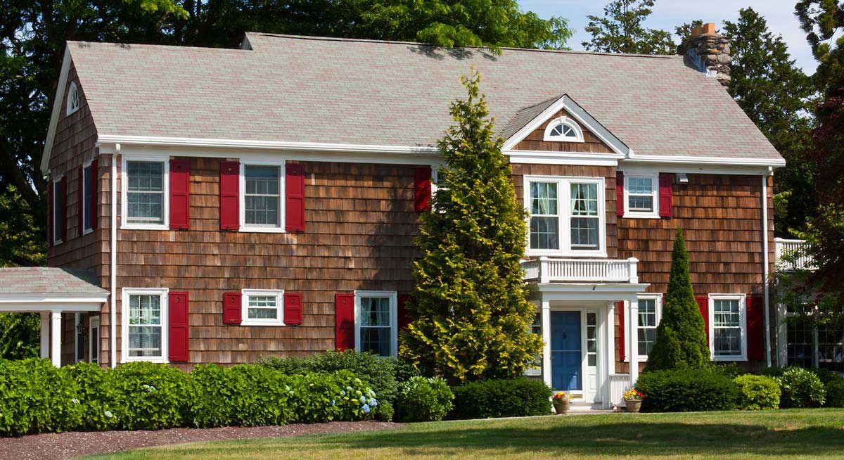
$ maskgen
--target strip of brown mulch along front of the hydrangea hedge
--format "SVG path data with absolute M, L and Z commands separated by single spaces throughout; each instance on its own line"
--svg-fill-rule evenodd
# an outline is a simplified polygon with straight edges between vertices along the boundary
M 403 426 L 387 422 L 332 422 L 313 425 L 283 425 L 226 428 L 174 428 L 158 431 L 72 431 L 19 438 L 0 438 L 0 459 L 66 460 L 95 453 L 121 452 L 140 447 L 165 446 L 197 441 L 271 438 L 282 436 L 392 430 Z

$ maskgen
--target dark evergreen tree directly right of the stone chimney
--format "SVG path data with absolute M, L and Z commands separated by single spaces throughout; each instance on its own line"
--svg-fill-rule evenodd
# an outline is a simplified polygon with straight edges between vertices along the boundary
M 809 165 L 803 147 L 814 116 L 809 111 L 814 85 L 794 64 L 782 35 L 768 30 L 765 18 L 753 8 L 738 10 L 738 21 L 724 21 L 730 38 L 729 92 L 786 159 L 776 170 L 774 192 L 776 230 L 804 230 L 817 203 L 812 195 Z

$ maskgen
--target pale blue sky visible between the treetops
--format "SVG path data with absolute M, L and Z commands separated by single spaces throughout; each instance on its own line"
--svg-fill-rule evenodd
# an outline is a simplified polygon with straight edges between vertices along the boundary
M 533 11 L 540 17 L 562 16 L 569 19 L 575 36 L 568 46 L 573 50 L 582 50 L 582 41 L 589 36 L 584 29 L 587 14 L 603 15 L 606 0 L 518 0 L 522 9 Z M 782 35 L 788 45 L 788 51 L 803 72 L 814 73 L 817 63 L 812 57 L 812 50 L 806 43 L 806 35 L 800 30 L 800 24 L 794 17 L 794 0 L 657 0 L 653 14 L 645 25 L 652 29 L 674 30 L 674 26 L 693 19 L 714 22 L 720 29 L 723 21 L 738 19 L 738 8 L 751 7 L 768 21 L 768 29 Z

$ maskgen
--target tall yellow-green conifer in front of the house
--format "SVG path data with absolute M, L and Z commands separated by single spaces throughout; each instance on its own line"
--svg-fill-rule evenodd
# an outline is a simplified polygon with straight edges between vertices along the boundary
M 446 167 L 434 211 L 421 218 L 408 306 L 414 321 L 399 350 L 452 383 L 519 376 L 542 350 L 542 339 L 528 331 L 536 307 L 527 301 L 519 265 L 527 216 L 479 92 L 480 76 L 462 79 L 468 99 L 452 103 L 454 124 L 438 143 Z

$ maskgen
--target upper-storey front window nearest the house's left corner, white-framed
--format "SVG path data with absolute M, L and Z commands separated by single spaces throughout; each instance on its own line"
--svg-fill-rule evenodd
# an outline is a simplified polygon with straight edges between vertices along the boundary
M 167 160 L 123 161 L 123 228 L 167 228 L 168 165 Z

